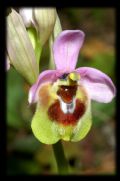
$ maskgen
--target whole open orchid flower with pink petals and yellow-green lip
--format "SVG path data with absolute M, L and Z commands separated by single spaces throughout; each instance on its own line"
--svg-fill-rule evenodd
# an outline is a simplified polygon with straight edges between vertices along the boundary
M 108 103 L 115 96 L 112 80 L 89 67 L 75 69 L 85 34 L 65 30 L 53 44 L 56 70 L 40 73 L 30 88 L 29 103 L 37 103 L 32 131 L 42 143 L 79 141 L 92 125 L 91 100 Z

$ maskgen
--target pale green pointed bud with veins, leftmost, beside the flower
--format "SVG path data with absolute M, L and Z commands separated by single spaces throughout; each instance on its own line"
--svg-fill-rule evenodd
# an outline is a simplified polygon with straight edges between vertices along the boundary
M 13 9 L 7 17 L 7 52 L 10 63 L 33 84 L 39 74 L 39 67 L 22 18 Z

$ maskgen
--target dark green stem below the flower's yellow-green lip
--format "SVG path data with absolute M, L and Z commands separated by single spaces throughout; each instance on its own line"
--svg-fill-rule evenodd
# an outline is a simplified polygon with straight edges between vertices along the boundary
M 69 173 L 68 163 L 65 158 L 64 150 L 61 141 L 53 144 L 53 151 L 57 162 L 58 172 L 60 175 L 67 175 Z

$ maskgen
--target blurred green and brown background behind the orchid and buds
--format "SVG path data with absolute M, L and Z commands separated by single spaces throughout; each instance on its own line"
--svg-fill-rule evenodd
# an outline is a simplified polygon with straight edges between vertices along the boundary
M 62 28 L 81 29 L 85 42 L 77 67 L 97 68 L 115 77 L 115 10 L 110 8 L 58 9 Z M 40 69 L 48 69 L 48 45 Z M 37 141 L 31 132 L 35 111 L 28 104 L 29 86 L 11 68 L 7 73 L 7 174 L 57 174 L 52 146 Z M 92 102 L 93 126 L 80 142 L 63 142 L 71 173 L 115 174 L 115 99 L 109 104 Z

